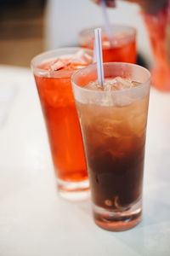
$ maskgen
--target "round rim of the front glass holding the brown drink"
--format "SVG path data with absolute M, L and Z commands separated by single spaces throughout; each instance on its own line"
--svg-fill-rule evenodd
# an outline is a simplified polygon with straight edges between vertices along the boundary
M 143 69 L 143 71 L 145 73 L 147 73 L 147 75 L 148 75 L 148 79 L 144 83 L 140 83 L 136 87 L 131 87 L 131 88 L 123 89 L 123 90 L 110 90 L 111 93 L 117 94 L 117 93 L 127 92 L 127 91 L 130 91 L 130 90 L 139 90 L 139 89 L 145 87 L 147 84 L 150 84 L 150 79 L 151 79 L 150 71 L 145 67 L 139 66 L 138 64 L 132 64 L 132 63 L 127 63 L 127 62 L 105 62 L 105 63 L 103 63 L 103 65 L 104 66 L 123 65 L 123 66 L 130 66 L 130 67 L 139 67 L 139 68 Z M 108 90 L 91 90 L 91 89 L 88 89 L 88 88 L 84 88 L 84 87 L 82 87 L 82 86 L 80 86 L 80 85 L 78 85 L 77 83 L 74 82 L 74 79 L 75 79 L 75 77 L 77 76 L 78 73 L 82 72 L 85 69 L 92 68 L 92 67 L 96 67 L 96 70 L 97 70 L 97 64 L 94 63 L 92 65 L 89 65 L 88 67 L 83 67 L 80 70 L 77 70 L 75 73 L 73 73 L 72 76 L 71 76 L 71 83 L 73 84 L 73 86 L 77 87 L 79 90 L 82 90 L 84 92 L 89 92 L 90 91 L 91 93 L 99 93 L 99 94 L 108 93 Z M 105 79 L 105 74 L 104 74 L 104 79 Z

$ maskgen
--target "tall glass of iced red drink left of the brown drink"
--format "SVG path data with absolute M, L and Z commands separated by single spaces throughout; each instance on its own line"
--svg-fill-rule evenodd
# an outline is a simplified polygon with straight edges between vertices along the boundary
M 63 48 L 37 55 L 31 61 L 59 194 L 70 200 L 86 197 L 89 188 L 71 75 L 91 64 L 92 55 L 89 49 Z

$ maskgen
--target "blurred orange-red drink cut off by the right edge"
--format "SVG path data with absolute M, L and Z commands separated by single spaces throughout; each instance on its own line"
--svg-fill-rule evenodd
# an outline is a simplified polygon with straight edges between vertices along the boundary
M 164 9 L 157 15 L 144 14 L 155 67 L 152 70 L 152 84 L 162 91 L 170 91 L 170 11 Z

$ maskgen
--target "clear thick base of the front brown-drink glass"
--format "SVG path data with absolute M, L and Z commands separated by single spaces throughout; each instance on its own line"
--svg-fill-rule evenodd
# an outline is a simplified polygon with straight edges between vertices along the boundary
M 108 211 L 105 208 L 93 205 L 94 221 L 100 228 L 110 231 L 130 230 L 141 221 L 142 201 L 128 207 L 126 211 Z

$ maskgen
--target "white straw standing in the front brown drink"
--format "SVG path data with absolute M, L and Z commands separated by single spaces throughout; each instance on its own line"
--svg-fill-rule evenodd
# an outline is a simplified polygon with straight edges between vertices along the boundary
M 102 54 L 102 41 L 101 41 L 101 28 L 96 28 L 95 33 L 95 55 L 97 60 L 98 83 L 103 86 L 104 84 L 104 68 L 103 68 L 103 54 Z

